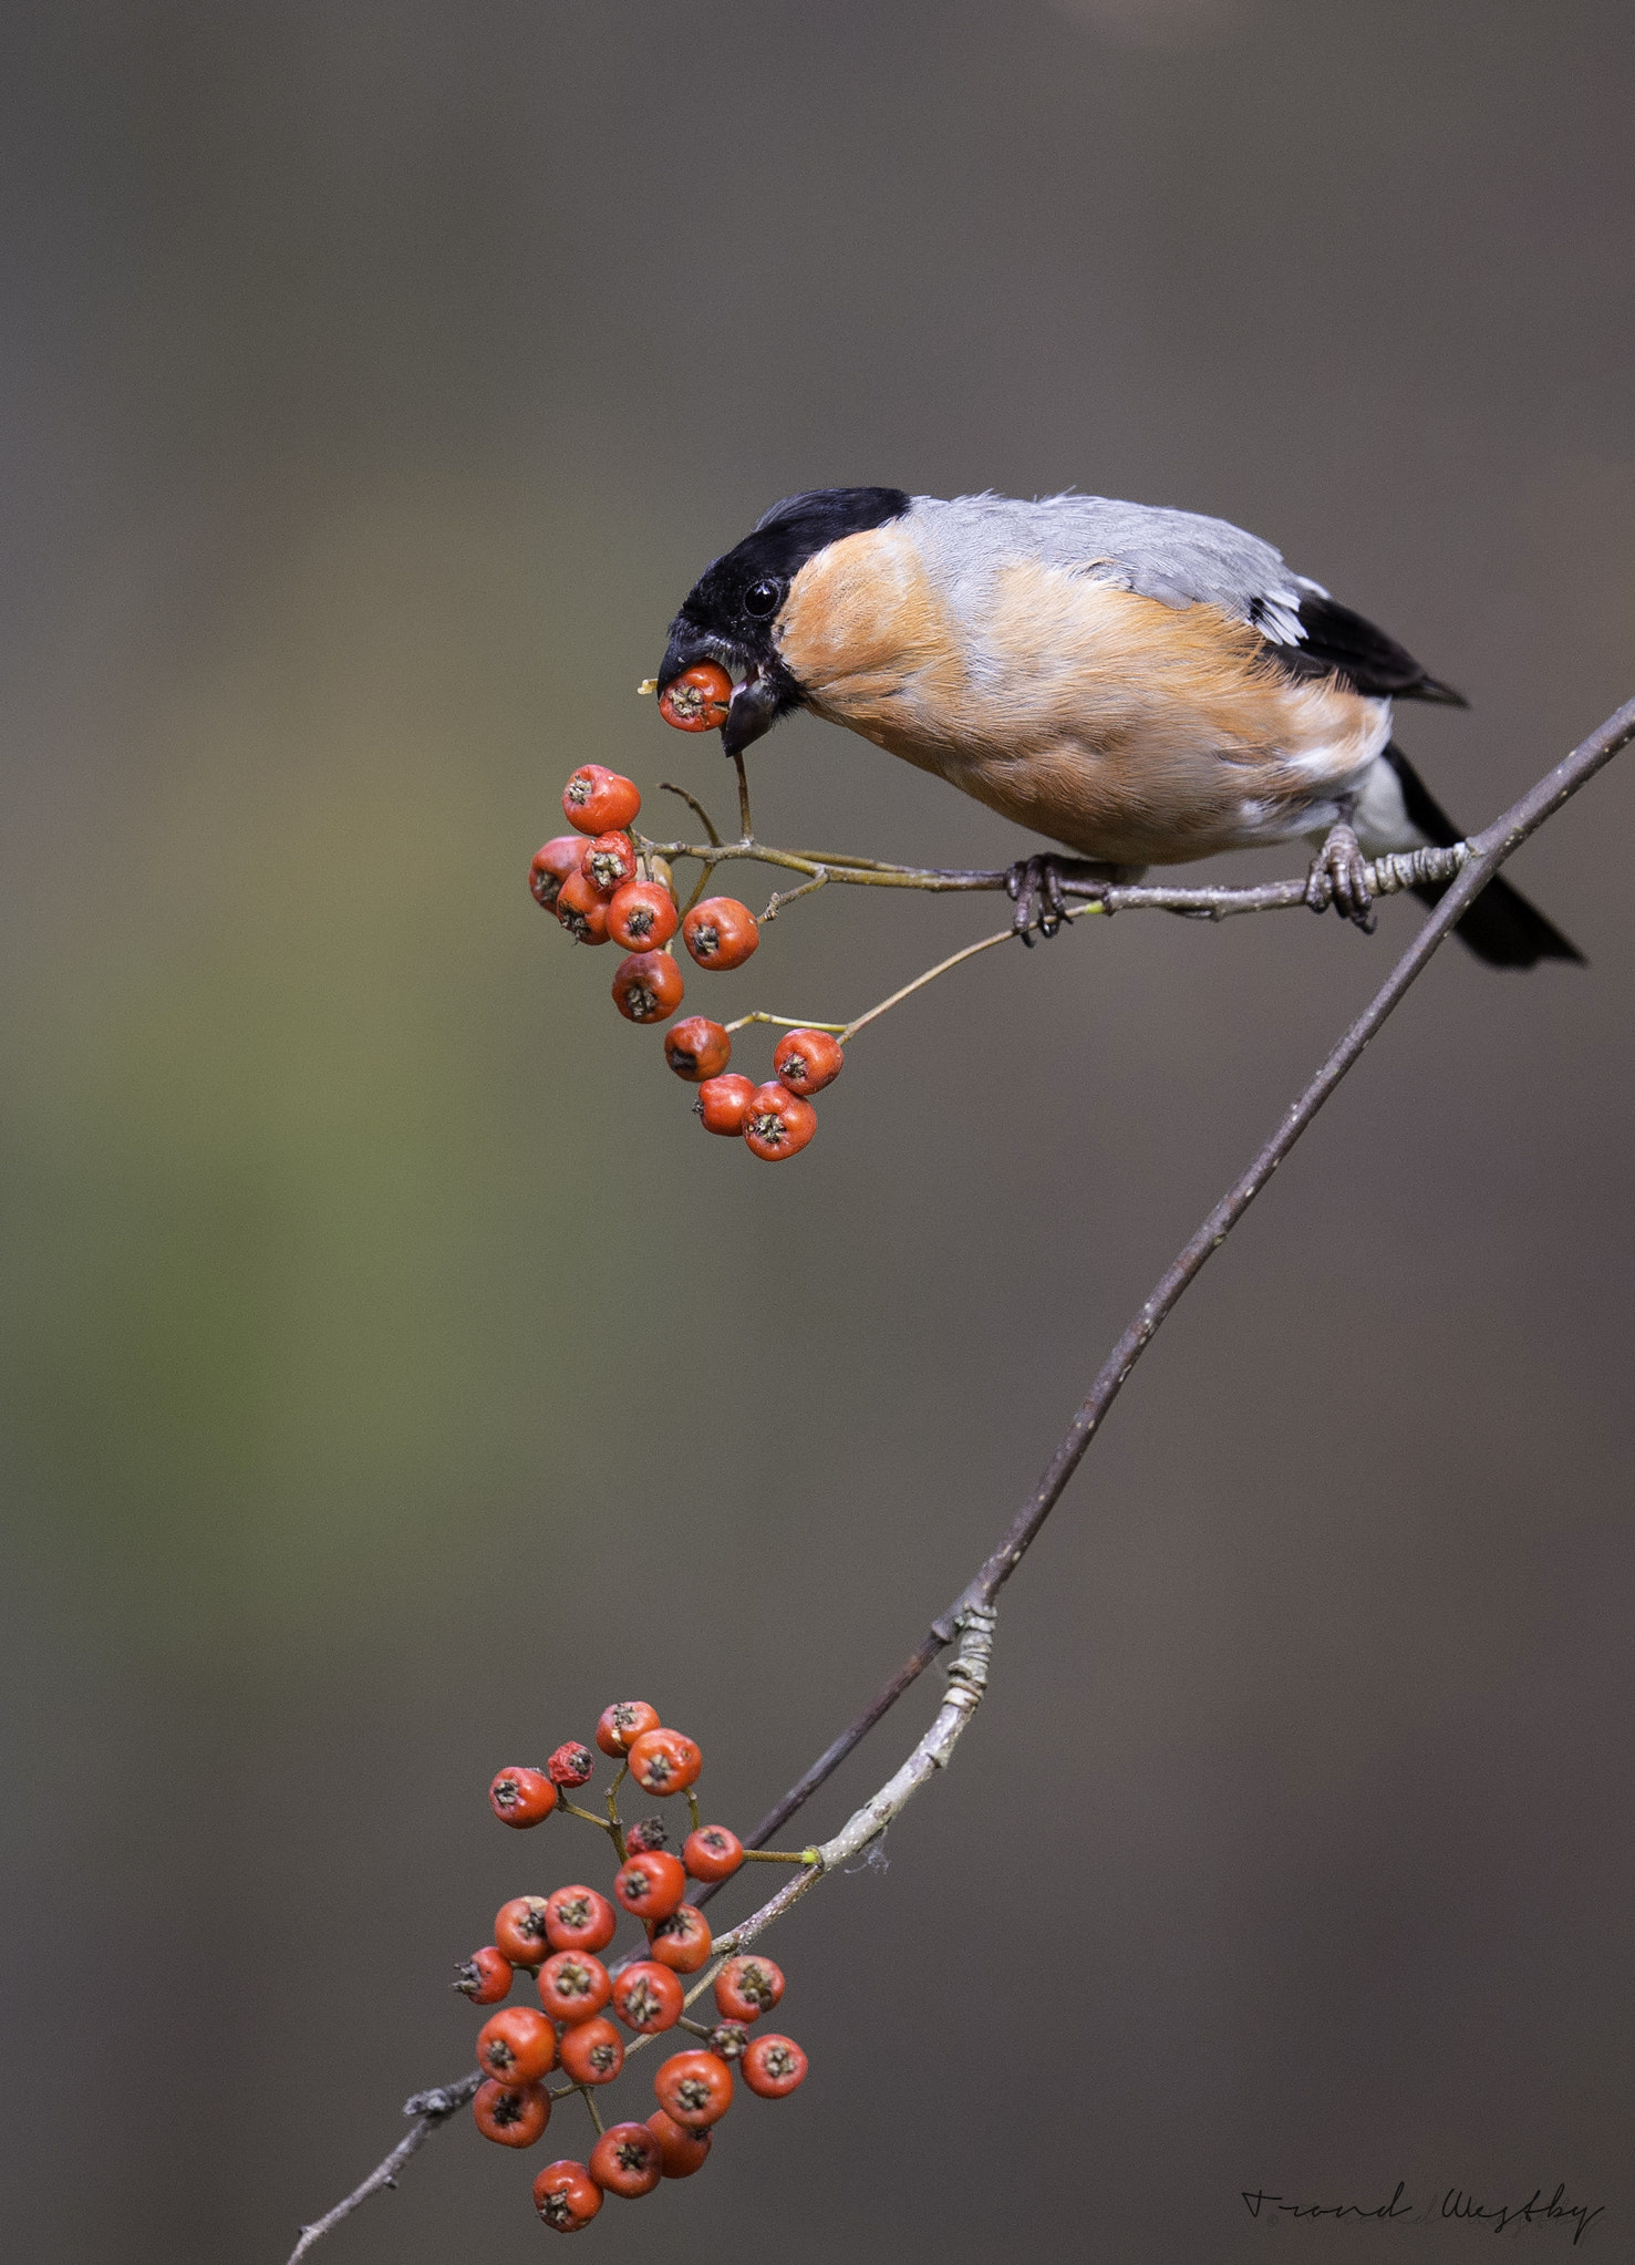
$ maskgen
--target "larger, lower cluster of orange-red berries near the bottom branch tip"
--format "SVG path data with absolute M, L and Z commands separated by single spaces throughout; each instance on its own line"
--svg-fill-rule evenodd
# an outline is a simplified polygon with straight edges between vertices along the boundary
M 577 1807 L 573 1794 L 591 1783 L 596 1755 L 589 1746 L 557 1746 L 543 1769 L 503 1769 L 489 1785 L 494 1814 L 516 1828 L 543 1823 L 553 1812 L 580 1817 L 609 1835 L 618 1857 L 614 1900 L 593 1887 L 557 1887 L 548 1896 L 514 1896 L 500 1905 L 494 1941 L 457 1971 L 455 1989 L 473 2005 L 500 2005 L 516 1968 L 534 1980 L 539 2011 L 507 2005 L 478 2032 L 482 2086 L 473 2100 L 478 2131 L 500 2147 L 532 2147 L 550 2122 L 557 2100 L 580 2093 L 598 2138 L 589 2161 L 557 2161 L 534 2179 L 534 2208 L 557 2233 L 577 2233 L 602 2206 L 602 2195 L 650 2195 L 659 2179 L 691 2177 L 711 2149 L 713 2131 L 731 2106 L 734 2068 L 763 2100 L 781 2100 L 806 2077 L 806 2054 L 790 2036 L 750 2027 L 784 1995 L 784 1975 L 759 1955 L 718 1959 L 711 1971 L 713 1937 L 697 1905 L 686 1900 L 688 1880 L 729 1880 L 747 1855 L 727 1826 L 700 1823 L 693 1785 L 702 1767 L 697 1744 L 668 1730 L 645 1699 L 620 1699 L 598 1726 L 596 1744 L 618 1764 L 607 1787 L 607 1814 Z M 684 1794 L 693 1830 L 679 1857 L 666 1851 L 661 1817 L 625 1826 L 618 1787 L 632 1778 L 661 1801 Z M 802 1862 L 790 1857 L 786 1862 Z M 641 1955 L 611 1966 L 600 1952 L 627 1912 L 643 1928 Z M 684 1977 L 702 1980 L 688 1991 Z M 688 2020 L 686 2007 L 713 1982 L 713 2023 Z M 602 2125 L 596 2106 L 600 2086 L 625 2066 L 620 2029 L 611 2011 L 636 2038 L 666 2029 L 688 2029 L 702 2038 L 695 2050 L 673 2052 L 654 2077 L 659 2106 L 645 2122 Z M 546 2077 L 566 2077 L 557 2091 Z

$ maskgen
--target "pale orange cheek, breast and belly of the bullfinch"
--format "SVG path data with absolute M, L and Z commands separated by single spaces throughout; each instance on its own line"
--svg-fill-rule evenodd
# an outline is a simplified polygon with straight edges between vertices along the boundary
M 1388 702 L 1291 682 L 1209 605 L 1035 559 L 940 587 L 910 519 L 808 559 L 779 648 L 820 716 L 1130 865 L 1302 831 L 1390 729 Z

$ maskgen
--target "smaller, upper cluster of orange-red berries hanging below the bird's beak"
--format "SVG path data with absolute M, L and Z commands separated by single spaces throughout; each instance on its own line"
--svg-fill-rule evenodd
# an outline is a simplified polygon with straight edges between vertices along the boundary
M 677 680 L 666 700 L 684 689 Z M 709 725 L 684 723 L 682 729 Z M 754 913 L 736 897 L 704 897 L 686 913 L 677 908 L 670 867 L 630 834 L 641 811 L 630 779 L 582 763 L 564 788 L 562 809 L 575 831 L 534 852 L 528 883 L 577 942 L 625 947 L 627 958 L 614 974 L 614 1006 L 625 1022 L 668 1022 L 679 1008 L 686 985 L 675 963 L 677 933 L 697 967 L 743 967 L 761 942 Z M 831 1085 L 845 1062 L 827 1031 L 788 1031 L 772 1055 L 772 1078 L 756 1085 L 727 1074 L 731 1031 L 707 1015 L 673 1024 L 664 1058 L 677 1078 L 697 1085 L 704 1130 L 741 1137 L 768 1164 L 799 1155 L 817 1130 L 811 1094 Z

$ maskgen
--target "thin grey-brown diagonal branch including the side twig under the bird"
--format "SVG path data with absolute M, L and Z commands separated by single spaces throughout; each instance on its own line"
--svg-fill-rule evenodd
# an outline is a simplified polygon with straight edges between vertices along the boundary
M 754 1832 L 745 1837 L 745 1846 L 759 1848 L 779 1830 L 779 1826 L 788 1823 L 788 1819 L 817 1792 L 817 1787 L 829 1776 L 833 1776 L 840 1762 L 854 1751 L 854 1746 L 858 1746 L 858 1742 L 874 1728 L 874 1724 L 885 1712 L 890 1712 L 890 1708 L 901 1699 L 908 1685 L 924 1674 L 924 1669 L 938 1658 L 938 1653 L 947 1651 L 949 1644 L 958 1642 L 956 1660 L 949 1667 L 951 1687 L 947 1699 L 942 1701 L 942 1708 L 935 1715 L 935 1721 L 931 1724 L 926 1735 L 917 1742 L 917 1746 L 901 1764 L 901 1769 L 897 1769 L 894 1776 L 888 1778 L 888 1783 L 872 1796 L 872 1801 L 865 1801 L 863 1807 L 847 1819 L 840 1832 L 836 1832 L 833 1839 L 824 1841 L 822 1848 L 815 1851 L 815 1862 L 806 1864 L 795 1878 L 786 1880 L 784 1887 L 768 1898 L 768 1903 L 763 1903 L 756 1912 L 750 1914 L 750 1918 L 741 1921 L 736 1928 L 727 1930 L 716 1939 L 716 1950 L 722 1957 L 729 1950 L 743 1948 L 743 1943 L 752 1941 L 756 1934 L 765 1932 L 765 1928 L 770 1928 L 777 1918 L 781 1918 L 784 1912 L 793 1909 L 793 1905 L 799 1903 L 802 1896 L 808 1896 L 811 1889 L 817 1884 L 817 1880 L 827 1878 L 851 1855 L 867 1848 L 870 1841 L 879 1839 L 879 1835 L 885 1830 L 892 1817 L 897 1817 L 899 1810 L 913 1798 L 913 1794 L 919 1792 L 919 1787 L 938 1769 L 947 1767 L 949 1755 L 953 1753 L 953 1746 L 960 1733 L 965 1730 L 965 1724 L 976 1712 L 983 1690 L 987 1687 L 987 1669 L 994 1642 L 994 1608 L 999 1590 L 1005 1586 L 1005 1581 L 1012 1576 L 1028 1547 L 1039 1536 L 1044 1520 L 1060 1502 L 1067 1481 L 1078 1470 L 1085 1450 L 1096 1436 L 1107 1409 L 1123 1391 L 1123 1384 L 1128 1382 L 1135 1364 L 1141 1359 L 1146 1348 L 1153 1343 L 1153 1336 L 1157 1334 L 1159 1325 L 1169 1318 L 1169 1314 L 1180 1302 L 1191 1282 L 1198 1277 L 1198 1273 L 1205 1268 L 1209 1257 L 1221 1248 L 1232 1228 L 1248 1212 L 1255 1196 L 1259 1196 L 1259 1191 L 1266 1187 L 1270 1176 L 1277 1171 L 1282 1160 L 1289 1155 L 1300 1135 L 1313 1121 L 1313 1117 L 1329 1099 L 1329 1094 L 1336 1089 L 1336 1085 L 1361 1060 L 1361 1053 L 1368 1046 L 1370 1037 L 1397 1008 L 1397 1003 L 1404 999 L 1411 985 L 1424 974 L 1436 949 L 1445 942 L 1445 938 L 1465 915 L 1470 904 L 1481 895 L 1492 874 L 1504 865 L 1504 861 L 1515 849 L 1520 849 L 1520 845 L 1531 834 L 1535 834 L 1549 818 L 1553 818 L 1556 811 L 1572 795 L 1576 795 L 1578 788 L 1585 786 L 1597 775 L 1597 770 L 1610 763 L 1612 757 L 1621 747 L 1626 747 L 1633 738 L 1635 738 L 1635 700 L 1628 700 L 1621 709 L 1617 709 L 1615 716 L 1610 716 L 1601 725 L 1599 732 L 1592 732 L 1590 738 L 1585 738 L 1578 747 L 1574 747 L 1574 752 L 1565 757 L 1565 761 L 1560 761 L 1544 779 L 1538 781 L 1538 786 L 1533 786 L 1526 795 L 1522 795 L 1522 800 L 1515 802 L 1490 827 L 1486 827 L 1481 834 L 1474 834 L 1467 843 L 1458 843 L 1454 849 L 1436 852 L 1436 856 L 1452 861 L 1447 867 L 1454 872 L 1452 888 L 1436 906 L 1431 917 L 1420 926 L 1413 942 L 1402 954 L 1397 965 L 1390 969 L 1375 999 L 1356 1017 L 1356 1022 L 1350 1026 L 1350 1031 L 1341 1037 L 1329 1058 L 1322 1062 L 1318 1074 L 1311 1078 L 1307 1089 L 1284 1114 L 1277 1130 L 1264 1144 L 1259 1155 L 1234 1180 L 1234 1185 L 1225 1191 L 1225 1196 L 1214 1205 L 1209 1216 L 1202 1221 L 1198 1232 L 1180 1248 L 1171 1266 L 1159 1275 L 1150 1296 L 1144 1300 L 1141 1309 L 1135 1314 L 1135 1318 L 1128 1323 L 1128 1327 L 1114 1343 L 1107 1359 L 1101 1364 L 1089 1386 L 1089 1393 L 1085 1395 L 1078 1413 L 1062 1434 L 1062 1441 L 1055 1454 L 1051 1456 L 1039 1484 L 1012 1518 L 999 1547 L 983 1561 L 976 1574 L 971 1574 L 971 1579 L 953 1599 L 953 1604 L 931 1622 L 926 1635 L 915 1647 L 915 1651 L 908 1653 L 897 1674 L 888 1678 L 888 1683 L 874 1694 L 874 1699 L 870 1699 L 863 1712 L 811 1764 L 811 1769 L 802 1778 L 797 1778 L 795 1785 L 790 1785 L 784 1798 L 768 1810 L 768 1814 L 759 1821 Z M 684 845 L 654 843 L 650 847 L 661 856 L 700 854 L 686 849 Z M 756 845 L 750 840 L 711 849 L 711 861 L 727 856 L 761 856 L 765 863 L 784 863 L 799 867 L 799 861 L 793 854 L 781 854 L 781 852 L 768 854 L 756 849 Z M 1375 892 L 1388 895 L 1390 888 L 1413 886 L 1420 879 L 1443 879 L 1445 877 L 1443 870 L 1433 874 L 1429 870 L 1418 867 L 1418 858 L 1424 856 L 1427 852 L 1418 852 L 1413 861 L 1406 858 L 1377 861 L 1375 867 L 1370 867 L 1370 883 L 1375 886 Z M 854 867 L 842 872 L 838 870 L 840 861 L 824 858 L 822 863 L 829 867 L 829 879 L 858 879 L 858 877 L 876 877 L 879 872 L 892 872 L 892 874 L 904 872 L 901 867 L 870 867 L 867 872 Z M 1413 870 L 1409 872 L 1406 867 Z M 1381 870 L 1395 870 L 1395 879 L 1388 879 L 1381 886 L 1379 883 Z M 987 886 L 1003 888 L 1003 879 L 1005 879 L 1003 874 L 933 877 L 933 881 L 940 886 L 953 883 L 965 888 L 987 888 Z M 904 886 L 901 879 L 897 886 Z M 922 883 L 922 886 L 933 886 L 933 883 Z M 1293 886 L 1300 888 L 1300 897 L 1282 895 Z M 1069 890 L 1073 890 L 1073 883 L 1069 883 Z M 1089 895 L 1092 890 L 1096 892 L 1096 904 L 1094 906 L 1087 904 L 1085 911 L 1092 908 L 1121 911 L 1125 897 L 1135 897 L 1139 901 L 1155 901 L 1162 897 L 1171 899 L 1162 906 L 1164 911 L 1184 908 L 1191 911 L 1193 915 L 1202 913 L 1205 917 L 1216 917 L 1214 906 L 1221 899 L 1232 899 L 1232 904 L 1227 906 L 1232 911 L 1270 908 L 1273 901 L 1275 904 L 1304 901 L 1304 881 L 1273 883 L 1270 892 L 1268 890 L 1218 890 L 1218 892 L 1125 890 L 1125 888 L 1103 888 L 1101 883 L 1078 883 L 1073 892 Z M 1121 901 L 1114 906 L 1107 901 L 1110 897 L 1116 897 Z M 1187 904 L 1182 906 L 1175 904 L 1173 899 L 1187 899 Z M 1259 899 L 1259 901 L 1248 904 L 1243 899 Z M 999 938 L 994 938 L 994 942 L 999 942 Z M 707 1887 L 697 1894 L 695 1900 L 702 1905 L 713 1894 L 716 1889 Z M 709 1986 L 716 1971 L 718 1961 L 711 1961 L 707 1973 L 695 1982 L 693 1991 L 688 1993 L 688 2005 Z M 645 2038 L 636 2038 L 630 2045 L 627 2057 L 641 2050 L 643 2043 Z M 414 2154 L 417 2147 L 421 2147 L 430 2138 L 430 2134 L 439 2129 L 439 2125 L 444 2125 L 448 2116 L 455 2113 L 455 2109 L 464 2106 L 464 2102 L 471 2100 L 478 2084 L 480 2084 L 478 2075 L 466 2075 L 460 2077 L 457 2084 L 444 2086 L 439 2091 L 417 2093 L 405 2106 L 405 2113 L 417 2118 L 414 2129 L 362 2181 L 362 2186 L 358 2186 L 344 2202 L 335 2204 L 335 2208 L 326 2217 L 319 2217 L 317 2224 L 303 2229 L 294 2256 L 290 2258 L 290 2265 L 297 2265 L 297 2258 L 306 2256 L 313 2242 L 317 2242 L 319 2236 L 328 2233 L 331 2226 L 340 2224 L 342 2217 L 349 2217 L 360 2202 L 367 2202 L 369 2195 L 378 2193 L 383 2186 L 392 2186 L 399 2165 L 405 2163 L 410 2154 Z

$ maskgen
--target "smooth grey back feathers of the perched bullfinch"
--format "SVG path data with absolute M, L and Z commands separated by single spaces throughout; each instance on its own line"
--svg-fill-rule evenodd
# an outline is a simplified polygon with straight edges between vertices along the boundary
M 956 609 L 983 612 L 994 573 L 1017 557 L 1064 566 L 1159 605 L 1216 605 L 1250 621 L 1273 643 L 1304 639 L 1302 596 L 1327 598 L 1320 582 L 1291 573 L 1257 535 L 1150 503 L 1107 496 L 915 496 L 908 528 Z

